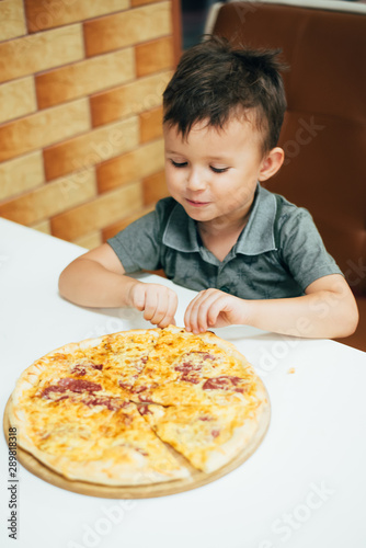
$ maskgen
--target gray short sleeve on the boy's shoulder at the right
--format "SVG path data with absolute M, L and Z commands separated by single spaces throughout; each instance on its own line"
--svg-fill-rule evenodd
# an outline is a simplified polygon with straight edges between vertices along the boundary
M 343 275 L 307 209 L 287 203 L 277 226 L 282 260 L 302 290 L 322 276 Z

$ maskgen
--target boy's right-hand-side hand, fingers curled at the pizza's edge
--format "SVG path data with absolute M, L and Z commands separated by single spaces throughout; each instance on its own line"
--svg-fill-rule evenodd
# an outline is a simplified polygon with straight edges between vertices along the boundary
M 207 328 L 243 323 L 243 299 L 219 289 L 201 292 L 187 306 L 184 315 L 185 329 L 199 333 L 207 331 Z

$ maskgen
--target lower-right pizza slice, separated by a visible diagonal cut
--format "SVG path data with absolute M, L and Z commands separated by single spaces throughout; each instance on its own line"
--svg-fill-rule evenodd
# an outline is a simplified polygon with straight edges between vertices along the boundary
M 253 407 L 141 404 L 139 411 L 163 442 L 206 473 L 255 447 L 267 426 L 267 406 Z

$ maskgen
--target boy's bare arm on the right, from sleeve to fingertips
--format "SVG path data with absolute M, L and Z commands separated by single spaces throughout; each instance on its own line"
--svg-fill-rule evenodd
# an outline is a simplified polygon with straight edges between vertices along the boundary
M 340 274 L 312 282 L 301 297 L 245 300 L 218 289 L 201 292 L 188 305 L 184 322 L 188 331 L 206 331 L 232 323 L 296 336 L 333 339 L 356 330 L 358 310 Z

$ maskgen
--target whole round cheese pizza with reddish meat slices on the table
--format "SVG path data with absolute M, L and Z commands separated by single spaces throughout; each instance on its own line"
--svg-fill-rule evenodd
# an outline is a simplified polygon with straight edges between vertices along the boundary
M 231 343 L 170 326 L 37 359 L 16 383 L 9 420 L 19 445 L 69 480 L 144 486 L 210 473 L 251 454 L 270 403 Z

